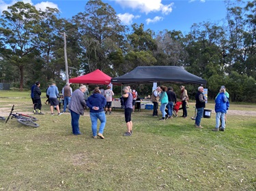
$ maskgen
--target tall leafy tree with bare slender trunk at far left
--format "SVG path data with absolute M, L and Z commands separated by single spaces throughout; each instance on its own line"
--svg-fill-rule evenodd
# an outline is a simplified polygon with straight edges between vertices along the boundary
M 18 1 L 3 11 L 0 20 L 0 55 L 20 72 L 20 90 L 23 90 L 24 71 L 33 67 L 33 57 L 40 47 L 40 12 L 29 3 Z

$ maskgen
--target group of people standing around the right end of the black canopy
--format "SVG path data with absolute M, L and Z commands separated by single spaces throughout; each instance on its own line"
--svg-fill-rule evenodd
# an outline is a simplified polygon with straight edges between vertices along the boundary
M 175 92 L 173 88 L 166 86 L 158 86 L 152 92 L 152 103 L 154 104 L 153 116 L 158 116 L 158 103 L 160 102 L 160 111 L 162 112 L 162 118 L 159 120 L 167 120 L 177 117 L 177 112 L 182 109 L 182 118 L 187 118 L 188 112 L 188 92 L 185 86 L 180 86 L 180 101 L 177 101 Z M 201 118 L 203 117 L 203 111 L 205 108 L 205 97 L 203 95 L 203 86 L 199 86 L 197 89 L 197 94 L 195 95 L 195 107 L 197 109 L 197 116 L 195 118 L 195 127 L 203 128 L 201 126 Z M 180 108 L 182 105 L 182 108 Z M 167 108 L 167 109 L 166 109 Z M 215 112 L 216 112 L 216 127 L 212 131 L 225 131 L 225 122 L 227 120 L 226 114 L 229 109 L 229 93 L 226 91 L 225 86 L 221 86 L 220 91 L 215 99 Z M 221 122 L 221 124 L 220 124 Z

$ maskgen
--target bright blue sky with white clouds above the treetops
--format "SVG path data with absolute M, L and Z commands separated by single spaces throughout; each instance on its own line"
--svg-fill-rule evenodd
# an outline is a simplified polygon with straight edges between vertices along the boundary
M 186 34 L 193 23 L 216 22 L 223 24 L 226 16 L 225 3 L 221 0 L 102 0 L 111 5 L 123 24 L 143 23 L 145 29 L 156 33 L 167 29 L 182 31 Z M 0 0 L 0 11 L 6 10 L 16 1 Z M 25 0 L 38 9 L 56 7 L 61 17 L 71 18 L 79 12 L 84 12 L 86 0 Z

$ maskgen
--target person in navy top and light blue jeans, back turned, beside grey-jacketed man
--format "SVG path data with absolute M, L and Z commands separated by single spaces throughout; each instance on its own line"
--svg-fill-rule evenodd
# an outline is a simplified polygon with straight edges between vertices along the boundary
M 104 139 L 103 131 L 106 125 L 104 107 L 106 105 L 106 99 L 101 94 L 100 90 L 95 88 L 93 94 L 87 99 L 86 103 L 87 107 L 90 109 L 92 136 L 94 139 L 97 139 L 97 135 L 100 139 Z M 100 129 L 97 134 L 98 120 L 100 120 Z

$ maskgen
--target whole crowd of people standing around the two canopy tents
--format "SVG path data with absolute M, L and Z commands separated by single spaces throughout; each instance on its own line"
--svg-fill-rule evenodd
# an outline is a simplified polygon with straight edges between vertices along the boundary
M 166 86 L 158 86 L 152 92 L 151 101 L 154 105 L 153 116 L 158 116 L 158 105 L 160 103 L 160 111 L 162 117 L 159 120 L 167 120 L 177 117 L 177 113 L 182 109 L 182 118 L 187 118 L 188 107 L 188 93 L 185 86 L 180 86 L 180 101 L 177 99 L 175 92 L 172 87 L 167 88 Z M 31 99 L 33 101 L 33 114 L 44 115 L 41 111 L 41 90 L 40 82 L 35 82 L 31 87 Z M 66 86 L 62 88 L 63 94 L 63 111 L 59 108 L 59 90 L 53 82 L 51 86 L 46 89 L 46 104 L 50 104 L 51 115 L 54 116 L 53 109 L 57 110 L 57 115 L 60 116 L 66 112 L 68 107 L 68 112 L 71 116 L 71 126 L 73 135 L 81 135 L 79 129 L 79 118 L 83 116 L 85 109 L 89 108 L 89 116 L 91 118 L 91 131 L 92 137 L 97 139 L 104 139 L 104 127 L 106 125 L 106 114 L 109 111 L 111 114 L 112 101 L 114 92 L 111 90 L 111 86 L 106 86 L 106 90 L 100 87 L 94 88 L 94 90 L 89 94 L 87 86 L 81 84 L 81 86 L 72 91 L 70 84 L 67 83 Z M 127 131 L 124 136 L 132 135 L 132 112 L 134 112 L 134 105 L 138 98 L 138 93 L 136 90 L 132 90 L 130 86 L 125 86 L 123 88 L 122 101 L 124 105 L 124 117 L 126 122 Z M 201 118 L 203 117 L 203 111 L 205 108 L 205 97 L 203 95 L 203 86 L 199 86 L 197 89 L 197 94 L 195 95 L 195 107 L 197 109 L 197 116 L 195 118 L 195 127 L 203 128 L 201 126 Z M 180 106 L 182 106 L 180 108 Z M 216 111 L 216 126 L 212 131 L 225 131 L 226 114 L 229 109 L 229 93 L 225 90 L 225 86 L 221 86 L 221 89 L 215 99 L 215 111 Z M 98 120 L 100 121 L 99 130 L 97 129 Z M 98 132 L 98 133 L 97 133 Z

